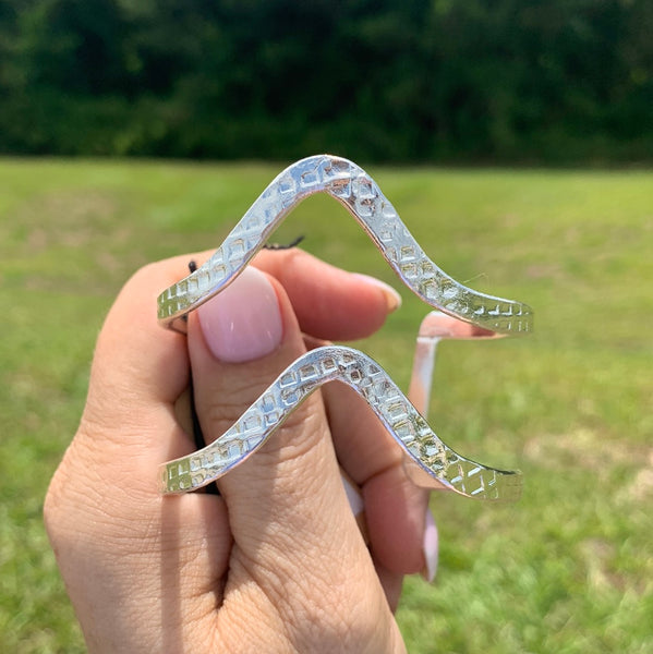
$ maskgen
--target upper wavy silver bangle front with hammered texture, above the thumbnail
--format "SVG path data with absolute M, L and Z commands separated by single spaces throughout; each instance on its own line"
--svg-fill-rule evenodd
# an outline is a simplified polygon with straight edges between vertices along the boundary
M 330 155 L 283 170 L 210 259 L 159 295 L 159 320 L 185 331 L 183 316 L 233 281 L 290 210 L 321 192 L 347 207 L 403 283 L 431 306 L 498 335 L 531 330 L 528 305 L 480 293 L 449 277 L 422 251 L 374 180 L 352 161 Z

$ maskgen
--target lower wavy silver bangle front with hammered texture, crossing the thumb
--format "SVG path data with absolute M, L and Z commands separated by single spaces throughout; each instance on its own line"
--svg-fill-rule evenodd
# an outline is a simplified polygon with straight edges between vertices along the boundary
M 183 493 L 216 481 L 256 451 L 311 392 L 335 380 L 348 384 L 367 401 L 406 452 L 411 476 L 419 485 L 444 485 L 479 499 L 519 497 L 519 472 L 495 470 L 456 453 L 377 363 L 358 350 L 339 346 L 318 348 L 299 358 L 217 440 L 165 463 L 161 491 Z

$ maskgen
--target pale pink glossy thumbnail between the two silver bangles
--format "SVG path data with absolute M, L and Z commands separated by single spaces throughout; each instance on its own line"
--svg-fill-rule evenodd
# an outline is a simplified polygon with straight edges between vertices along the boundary
M 253 361 L 276 350 L 283 336 L 277 293 L 267 277 L 247 267 L 230 286 L 197 308 L 214 356 L 226 363 Z

